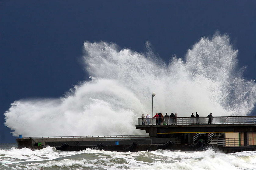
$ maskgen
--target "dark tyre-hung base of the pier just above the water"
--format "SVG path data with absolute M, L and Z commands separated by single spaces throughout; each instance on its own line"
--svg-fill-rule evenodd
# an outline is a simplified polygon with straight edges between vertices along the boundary
M 208 148 L 212 148 L 215 151 L 223 151 L 224 153 L 234 153 L 240 151 L 256 150 L 256 146 L 218 147 L 217 144 L 209 144 L 208 146 L 202 145 L 200 147 L 191 147 L 191 144 L 175 144 L 171 140 L 166 141 L 166 139 L 167 138 L 165 138 L 165 142 L 163 142 L 161 138 L 159 139 L 162 142 L 162 144 L 152 144 L 151 140 L 145 139 L 122 141 L 123 144 L 119 145 L 112 144 L 113 141 L 44 141 L 44 145 L 38 146 L 37 141 L 31 138 L 16 139 L 16 141 L 18 143 L 18 148 L 30 148 L 32 150 L 42 149 L 45 148 L 46 146 L 55 147 L 56 149 L 62 151 L 82 151 L 87 148 L 117 152 L 155 151 L 157 149 L 166 149 L 171 151 L 203 151 Z

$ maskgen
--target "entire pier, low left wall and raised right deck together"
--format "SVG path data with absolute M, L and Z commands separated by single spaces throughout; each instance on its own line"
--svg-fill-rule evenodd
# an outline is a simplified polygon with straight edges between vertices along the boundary
M 136 128 L 146 131 L 148 135 L 21 135 L 16 141 L 18 148 L 41 149 L 51 146 L 67 151 L 81 151 L 86 148 L 119 152 L 154 151 L 159 148 L 182 151 L 205 149 L 194 147 L 198 142 L 204 142 L 207 146 L 218 148 L 225 153 L 256 150 L 256 116 L 161 117 L 137 120 Z

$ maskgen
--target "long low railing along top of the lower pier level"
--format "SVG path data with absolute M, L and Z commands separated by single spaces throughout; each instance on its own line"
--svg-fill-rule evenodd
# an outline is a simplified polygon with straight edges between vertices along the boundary
M 98 136 L 39 136 L 23 138 L 132 138 L 132 137 L 149 137 L 149 135 L 98 135 Z

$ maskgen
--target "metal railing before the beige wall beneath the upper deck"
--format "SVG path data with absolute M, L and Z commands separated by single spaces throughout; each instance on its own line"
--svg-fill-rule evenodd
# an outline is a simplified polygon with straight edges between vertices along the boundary
M 218 144 L 218 147 L 227 147 L 227 146 L 256 146 L 256 138 L 246 138 L 246 145 L 244 138 L 218 138 L 212 140 L 212 144 Z

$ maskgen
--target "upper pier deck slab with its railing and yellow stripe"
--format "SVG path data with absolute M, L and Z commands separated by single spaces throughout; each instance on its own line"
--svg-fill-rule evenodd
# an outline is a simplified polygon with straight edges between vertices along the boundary
M 151 137 L 166 134 L 256 132 L 256 116 L 138 118 L 136 129 Z

